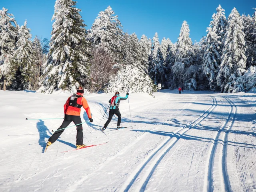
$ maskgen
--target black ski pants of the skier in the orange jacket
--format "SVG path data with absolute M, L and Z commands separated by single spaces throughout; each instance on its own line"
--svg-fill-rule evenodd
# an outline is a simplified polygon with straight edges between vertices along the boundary
M 60 126 L 60 128 L 58 128 L 56 130 L 56 132 L 54 132 L 54 134 L 52 134 L 52 136 L 49 138 L 49 141 L 51 143 L 54 143 L 60 137 L 60 135 L 64 132 L 65 129 L 62 129 L 62 128 L 66 128 L 71 122 L 74 122 L 74 124 L 76 125 L 76 124 L 82 123 L 82 120 L 81 120 L 80 116 L 65 115 L 65 118 L 64 118 L 64 121 L 62 122 L 62 125 Z M 59 129 L 62 129 L 62 130 L 59 130 Z M 83 140 L 84 140 L 82 124 L 76 126 L 76 130 L 77 130 L 76 145 L 82 145 Z

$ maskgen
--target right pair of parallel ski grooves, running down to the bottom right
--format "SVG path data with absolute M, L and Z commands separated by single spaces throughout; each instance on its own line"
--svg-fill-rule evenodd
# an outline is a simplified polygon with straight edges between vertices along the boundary
M 208 191 L 208 192 L 212 192 L 214 191 L 214 186 L 213 186 L 213 169 L 214 169 L 214 157 L 215 157 L 215 154 L 216 154 L 216 149 L 217 149 L 217 146 L 218 144 L 219 145 L 223 145 L 221 142 L 219 143 L 219 138 L 220 138 L 220 134 L 222 132 L 225 132 L 225 140 L 224 140 L 224 144 L 226 143 L 227 145 L 227 142 L 228 142 L 228 132 L 230 131 L 230 129 L 232 128 L 233 124 L 234 124 L 234 119 L 235 119 L 235 116 L 236 116 L 236 111 L 233 112 L 233 108 L 234 108 L 234 103 L 222 96 L 223 98 L 225 98 L 227 100 L 227 102 L 230 104 L 231 108 L 229 110 L 229 113 L 228 113 L 228 118 L 226 119 L 226 121 L 224 122 L 224 124 L 221 126 L 220 129 L 218 129 L 218 133 L 216 134 L 216 137 L 214 138 L 214 143 L 213 143 L 213 146 L 212 146 L 212 150 L 211 150 L 211 153 L 210 153 L 210 156 L 209 156 L 209 159 L 208 159 L 208 166 L 206 166 L 206 174 L 205 174 L 205 179 L 204 179 L 204 191 Z M 236 106 L 235 106 L 236 107 Z M 231 126 L 229 126 L 228 128 L 228 131 L 226 130 L 226 127 L 227 125 L 229 124 L 231 120 Z M 220 154 L 222 156 L 222 158 L 226 158 L 226 148 L 222 150 L 222 153 Z M 224 186 L 223 188 L 225 188 L 225 191 L 229 191 L 230 187 L 229 186 L 229 181 L 228 181 L 228 175 L 226 174 L 226 159 L 224 159 L 224 161 L 222 160 L 222 164 L 221 164 L 222 168 L 222 186 Z M 225 171 L 225 173 L 223 173 Z

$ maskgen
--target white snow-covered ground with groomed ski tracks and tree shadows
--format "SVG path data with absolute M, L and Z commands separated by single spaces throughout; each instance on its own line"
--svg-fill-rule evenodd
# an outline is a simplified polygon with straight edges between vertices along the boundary
M 0 91 L 0 191 L 256 191 L 256 94 L 177 93 L 130 94 L 136 126 L 112 130 L 114 117 L 107 136 L 112 94 L 85 96 L 84 144 L 108 143 L 63 152 L 72 127 L 43 153 L 62 120 L 25 118 L 62 118 L 69 94 Z M 130 126 L 128 100 L 120 111 Z

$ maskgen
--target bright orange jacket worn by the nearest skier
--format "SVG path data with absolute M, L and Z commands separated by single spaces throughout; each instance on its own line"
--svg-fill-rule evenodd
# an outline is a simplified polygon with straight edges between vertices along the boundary
M 77 95 L 80 95 L 77 93 Z M 70 96 L 71 97 L 71 96 Z M 73 107 L 69 105 L 70 97 L 64 104 L 64 114 L 65 115 L 75 115 L 75 116 L 80 116 L 81 109 L 77 107 Z M 82 105 L 84 110 L 86 111 L 88 118 L 92 118 L 91 110 L 90 107 L 88 106 L 88 103 L 84 97 L 80 97 L 77 99 L 77 104 Z

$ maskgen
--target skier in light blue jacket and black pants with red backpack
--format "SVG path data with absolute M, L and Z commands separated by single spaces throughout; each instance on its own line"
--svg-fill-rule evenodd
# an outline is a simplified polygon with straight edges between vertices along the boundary
M 102 128 L 102 131 L 104 131 L 108 127 L 108 124 L 112 120 L 112 117 L 114 116 L 114 114 L 118 116 L 117 128 L 122 128 L 120 127 L 121 113 L 119 111 L 119 105 L 120 105 L 120 101 L 126 100 L 128 98 L 128 95 L 129 93 L 126 93 L 125 97 L 120 97 L 120 93 L 117 91 L 115 95 L 108 101 L 110 103 L 109 115 L 108 115 L 108 120 L 106 121 L 105 125 Z

